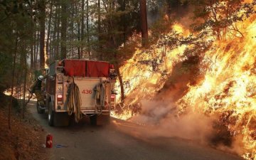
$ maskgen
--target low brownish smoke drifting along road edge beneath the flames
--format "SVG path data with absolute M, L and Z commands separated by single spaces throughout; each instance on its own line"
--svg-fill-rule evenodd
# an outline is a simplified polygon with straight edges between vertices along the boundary
M 218 116 L 209 117 L 196 110 L 179 115 L 175 103 L 171 101 L 144 100 L 141 114 L 129 119 L 132 124 L 117 121 L 114 124 L 122 132 L 145 142 L 159 137 L 181 138 L 232 154 L 243 153 L 242 137 L 233 139 L 228 129 L 218 126 Z

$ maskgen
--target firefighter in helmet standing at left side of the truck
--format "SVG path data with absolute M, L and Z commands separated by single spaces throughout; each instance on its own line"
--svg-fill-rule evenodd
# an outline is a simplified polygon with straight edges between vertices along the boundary
M 43 75 L 39 75 L 36 82 L 33 83 L 31 87 L 31 93 L 35 93 L 36 99 L 38 101 L 38 105 L 43 107 L 43 91 L 42 91 L 42 83 L 43 83 Z

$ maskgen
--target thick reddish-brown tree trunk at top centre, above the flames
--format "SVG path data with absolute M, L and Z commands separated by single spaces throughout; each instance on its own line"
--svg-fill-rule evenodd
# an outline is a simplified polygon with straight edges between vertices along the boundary
M 142 46 L 146 46 L 148 42 L 148 26 L 146 18 L 146 0 L 139 0 L 139 9 L 141 16 L 141 29 L 142 29 Z

